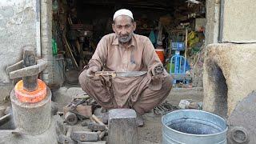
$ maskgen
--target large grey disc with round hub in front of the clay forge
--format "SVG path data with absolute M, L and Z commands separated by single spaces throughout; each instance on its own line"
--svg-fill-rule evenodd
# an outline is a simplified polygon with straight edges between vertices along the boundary
M 256 143 L 256 92 L 248 94 L 246 98 L 238 102 L 230 117 L 227 119 L 229 124 L 228 142 L 232 144 L 254 144 Z

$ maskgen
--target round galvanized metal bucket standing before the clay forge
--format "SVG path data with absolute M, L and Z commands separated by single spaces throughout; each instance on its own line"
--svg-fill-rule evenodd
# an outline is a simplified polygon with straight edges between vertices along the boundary
M 162 144 L 226 144 L 226 120 L 206 111 L 176 110 L 162 125 Z

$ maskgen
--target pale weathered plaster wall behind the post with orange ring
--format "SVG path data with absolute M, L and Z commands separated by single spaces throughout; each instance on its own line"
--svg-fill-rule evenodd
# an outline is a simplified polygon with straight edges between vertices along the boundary
M 34 11 L 33 0 L 0 2 L 0 102 L 12 88 L 6 66 L 22 59 L 23 46 L 36 46 Z

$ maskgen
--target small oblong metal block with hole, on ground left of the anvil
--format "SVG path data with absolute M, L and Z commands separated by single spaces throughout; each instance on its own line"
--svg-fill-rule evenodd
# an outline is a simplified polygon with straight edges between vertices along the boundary
M 98 141 L 98 133 L 90 131 L 73 131 L 71 138 L 77 142 L 96 142 Z

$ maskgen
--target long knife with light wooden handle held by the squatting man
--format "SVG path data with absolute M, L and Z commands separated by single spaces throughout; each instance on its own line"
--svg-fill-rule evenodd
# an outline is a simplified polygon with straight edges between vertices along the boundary
M 126 72 L 116 72 L 116 71 L 97 71 L 95 76 L 111 76 L 112 78 L 115 77 L 138 77 L 146 74 L 147 71 L 126 71 Z

